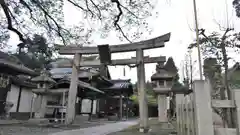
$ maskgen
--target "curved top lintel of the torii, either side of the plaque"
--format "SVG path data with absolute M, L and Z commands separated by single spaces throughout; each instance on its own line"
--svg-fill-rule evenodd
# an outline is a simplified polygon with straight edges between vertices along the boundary
M 151 48 L 159 48 L 164 47 L 165 42 L 170 40 L 170 33 L 165 35 L 135 42 L 135 43 L 128 43 L 128 44 L 120 44 L 120 45 L 111 45 L 110 51 L 111 53 L 118 53 L 118 52 L 130 52 L 135 51 L 137 49 L 151 49 Z M 59 50 L 60 54 L 63 55 L 73 55 L 76 53 L 79 54 L 98 54 L 98 47 L 79 47 L 79 46 L 64 46 L 61 47 Z

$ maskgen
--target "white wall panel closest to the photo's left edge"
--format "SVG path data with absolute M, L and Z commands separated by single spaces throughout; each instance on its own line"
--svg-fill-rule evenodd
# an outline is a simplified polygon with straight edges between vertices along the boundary
M 19 87 L 16 85 L 11 85 L 10 91 L 8 91 L 7 101 L 13 103 L 13 107 L 10 109 L 10 112 L 16 112 L 17 102 L 18 102 Z

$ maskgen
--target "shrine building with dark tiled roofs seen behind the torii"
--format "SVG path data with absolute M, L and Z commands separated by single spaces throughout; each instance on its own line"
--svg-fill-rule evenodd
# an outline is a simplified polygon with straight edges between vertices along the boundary
M 51 113 L 54 111 L 53 106 L 62 106 L 63 100 L 65 100 L 65 102 L 68 100 L 67 94 L 70 88 L 72 74 L 72 68 L 65 66 L 71 65 L 71 59 L 59 59 L 50 63 L 50 65 L 51 68 L 48 71 L 49 77 L 56 83 L 49 85 L 47 90 L 33 89 L 34 93 L 47 96 L 47 106 L 50 107 L 47 107 L 46 117 L 52 117 Z M 32 81 L 38 80 L 39 82 L 40 78 L 42 77 L 35 77 Z M 42 78 L 42 80 L 50 80 L 50 78 Z M 65 93 L 64 99 L 63 93 Z M 98 114 L 100 111 L 107 114 L 109 109 L 106 108 L 110 105 L 105 104 L 106 100 L 111 99 L 113 103 L 120 102 L 117 96 L 122 95 L 127 98 L 132 93 L 133 88 L 130 80 L 111 80 L 107 67 L 81 67 L 78 74 L 76 114 L 91 115 Z M 117 104 L 117 106 L 119 106 L 119 104 Z

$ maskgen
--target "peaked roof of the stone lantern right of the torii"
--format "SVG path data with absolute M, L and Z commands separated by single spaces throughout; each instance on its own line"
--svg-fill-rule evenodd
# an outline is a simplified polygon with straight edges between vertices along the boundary
M 165 68 L 164 68 L 164 63 L 158 63 L 158 65 L 156 66 L 156 73 L 153 74 L 151 76 L 151 80 L 152 81 L 157 81 L 157 80 L 166 80 L 166 81 L 170 81 L 173 80 L 173 78 L 177 75 L 176 73 L 171 73 L 168 72 Z

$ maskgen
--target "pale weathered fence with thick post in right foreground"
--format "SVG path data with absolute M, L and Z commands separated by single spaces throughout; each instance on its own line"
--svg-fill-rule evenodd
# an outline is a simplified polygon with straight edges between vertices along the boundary
M 193 93 L 176 95 L 178 135 L 239 135 L 240 89 L 232 90 L 233 100 L 212 100 L 208 81 L 194 82 Z M 214 125 L 213 108 L 231 108 L 236 114 L 236 128 Z

